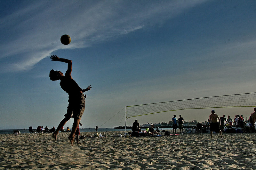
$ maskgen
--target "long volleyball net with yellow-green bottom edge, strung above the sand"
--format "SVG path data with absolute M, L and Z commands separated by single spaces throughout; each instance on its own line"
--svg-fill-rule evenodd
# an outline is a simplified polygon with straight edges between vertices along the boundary
M 126 119 L 175 110 L 225 107 L 256 107 L 256 92 L 126 106 Z

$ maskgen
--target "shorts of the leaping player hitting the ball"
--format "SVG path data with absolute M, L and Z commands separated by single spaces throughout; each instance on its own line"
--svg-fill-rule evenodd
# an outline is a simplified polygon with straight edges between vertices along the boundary
M 68 96 L 68 109 L 67 114 L 64 116 L 67 118 L 78 118 L 81 119 L 85 108 L 85 98 L 84 94 L 81 95 L 69 95 Z

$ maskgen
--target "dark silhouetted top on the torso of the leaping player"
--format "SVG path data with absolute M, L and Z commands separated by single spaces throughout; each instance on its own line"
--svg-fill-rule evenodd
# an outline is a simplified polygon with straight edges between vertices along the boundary
M 81 94 L 81 88 L 78 86 L 76 81 L 74 79 L 64 78 L 60 81 L 60 87 L 65 92 L 68 93 L 68 95 L 78 95 Z

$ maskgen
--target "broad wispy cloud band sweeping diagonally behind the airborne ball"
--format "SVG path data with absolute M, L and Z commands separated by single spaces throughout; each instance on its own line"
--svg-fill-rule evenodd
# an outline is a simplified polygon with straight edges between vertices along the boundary
M 0 42 L 0 68 L 8 72 L 30 69 L 58 49 L 83 48 L 161 24 L 202 2 L 32 2 L 0 18 L 4 35 Z M 62 34 L 70 34 L 70 45 L 60 44 Z

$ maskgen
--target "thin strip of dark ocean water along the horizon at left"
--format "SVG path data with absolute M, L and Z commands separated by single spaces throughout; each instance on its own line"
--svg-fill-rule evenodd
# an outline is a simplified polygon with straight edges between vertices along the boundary
M 13 133 L 13 131 L 19 130 L 20 133 L 28 133 L 28 129 L 4 129 L 4 130 L 0 130 L 0 134 L 11 134 Z M 66 129 L 64 129 L 66 130 Z M 70 129 L 72 130 L 72 129 Z M 93 132 L 95 131 L 94 128 L 84 128 L 81 129 L 79 128 L 80 132 Z M 114 128 L 99 128 L 98 132 L 101 131 L 124 131 L 125 129 L 114 129 Z M 126 131 L 131 131 L 131 129 L 126 129 Z

